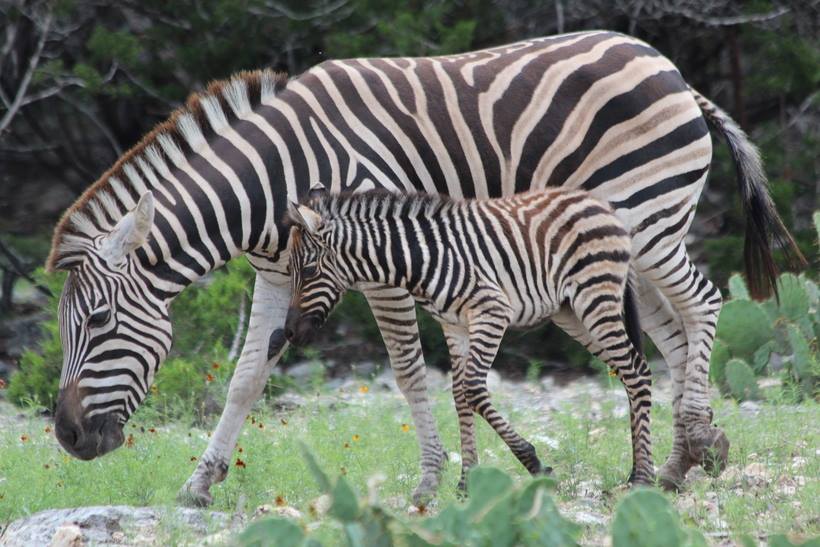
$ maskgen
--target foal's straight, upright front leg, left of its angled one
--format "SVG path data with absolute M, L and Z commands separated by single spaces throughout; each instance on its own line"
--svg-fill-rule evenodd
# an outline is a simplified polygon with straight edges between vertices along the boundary
M 460 325 L 442 324 L 447 347 L 450 350 L 450 363 L 453 369 L 453 401 L 458 414 L 458 429 L 461 437 L 461 478 L 458 489 L 467 488 L 467 472 L 478 464 L 478 451 L 475 442 L 475 413 L 467 402 L 467 391 L 464 384 L 464 372 L 470 336 Z

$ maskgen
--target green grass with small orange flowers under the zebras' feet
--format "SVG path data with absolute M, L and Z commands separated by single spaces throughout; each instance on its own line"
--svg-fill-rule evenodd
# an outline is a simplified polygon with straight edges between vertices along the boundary
M 545 394 L 548 400 L 549 394 Z M 602 403 L 593 419 L 595 401 L 581 401 L 548 415 L 532 408 L 513 408 L 502 395 L 498 406 L 526 437 L 533 437 L 542 460 L 554 468 L 559 506 L 571 515 L 584 511 L 611 517 L 624 495 L 623 483 L 630 466 L 627 418 L 617 415 L 615 403 Z M 355 393 L 347 401 L 327 394 L 308 396 L 308 404 L 294 412 L 274 415 L 260 405 L 240 436 L 227 480 L 212 488 L 213 509 L 232 513 L 237 505 L 252 513 L 277 497 L 313 523 L 311 502 L 319 490 L 301 455 L 297 440 L 304 441 L 331 475 L 345 473 L 359 493 L 367 479 L 382 473 L 387 480 L 381 499 L 404 512 L 418 480 L 418 451 L 407 405 L 393 394 Z M 8 409 L 8 406 L 2 407 Z M 718 541 L 728 535 L 753 537 L 791 533 L 798 537 L 820 535 L 820 411 L 813 402 L 802 405 L 761 405 L 754 417 L 743 415 L 735 403 L 714 401 L 715 421 L 732 441 L 730 469 L 723 477 L 703 474 L 673 496 L 685 523 Z M 458 432 L 452 402 L 446 392 L 435 396 L 435 414 L 449 452 L 458 450 Z M 263 428 L 259 424 L 263 424 Z M 179 486 L 193 471 L 207 445 L 208 431 L 140 411 L 126 428 L 133 445 L 91 462 L 65 455 L 47 432 L 47 422 L 29 416 L 6 419 L 0 432 L 0 525 L 48 508 L 84 505 L 174 505 Z M 153 431 L 151 428 L 155 428 Z M 26 440 L 23 441 L 22 437 Z M 544 436 L 557 441 L 550 449 Z M 478 422 L 482 463 L 500 467 L 519 480 L 526 473 L 506 446 L 486 424 Z M 663 462 L 671 443 L 671 414 L 667 405 L 653 412 L 656 463 Z M 538 439 L 541 439 L 539 441 Z M 803 460 L 795 459 L 802 458 Z M 245 467 L 236 465 L 237 459 Z M 793 467 L 796 463 L 798 467 Z M 768 480 L 757 484 L 743 478 L 742 470 L 760 463 Z M 456 500 L 459 465 L 446 466 L 436 507 Z M 796 476 L 804 477 L 796 491 L 785 490 Z M 592 485 L 591 495 L 590 485 Z M 721 522 L 722 521 L 722 522 Z M 725 526 L 725 527 L 724 527 Z M 319 521 L 315 534 L 329 544 L 341 536 L 333 524 Z M 180 534 L 173 522 L 165 524 L 169 538 Z M 588 524 L 584 540 L 595 543 L 606 534 L 606 524 Z

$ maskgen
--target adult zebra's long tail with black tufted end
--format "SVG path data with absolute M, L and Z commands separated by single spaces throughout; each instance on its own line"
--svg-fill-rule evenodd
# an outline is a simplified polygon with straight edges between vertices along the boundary
M 749 292 L 756 299 L 767 298 L 772 292 L 778 297 L 778 269 L 772 258 L 772 240 L 783 251 L 790 267 L 804 268 L 806 259 L 777 213 L 757 147 L 726 112 L 696 90 L 689 89 L 706 120 L 726 139 L 737 169 L 746 216 L 743 259 Z

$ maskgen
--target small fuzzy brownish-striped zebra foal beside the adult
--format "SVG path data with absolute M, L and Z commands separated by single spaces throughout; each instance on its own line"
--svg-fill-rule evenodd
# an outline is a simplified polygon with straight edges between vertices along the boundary
M 655 480 L 649 435 L 651 375 L 627 283 L 631 239 L 610 207 L 582 191 L 550 189 L 492 200 L 366 192 L 291 206 L 292 300 L 285 322 L 304 344 L 344 292 L 407 290 L 439 321 L 453 367 L 462 475 L 478 462 L 481 415 L 532 474 L 535 448 L 495 409 L 487 390 L 504 332 L 571 315 L 626 387 L 633 465 Z

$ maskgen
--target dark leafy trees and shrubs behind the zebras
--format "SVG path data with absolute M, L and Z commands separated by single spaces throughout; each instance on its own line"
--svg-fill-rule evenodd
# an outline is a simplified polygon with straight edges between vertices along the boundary
M 9 393 L 18 402 L 53 404 L 61 359 L 55 300 L 36 286 L 58 295 L 61 278 L 45 278 L 36 269 L 61 211 L 188 93 L 241 69 L 270 66 L 298 74 L 329 58 L 436 55 L 591 28 L 633 34 L 669 56 L 688 82 L 727 109 L 761 147 L 778 209 L 812 260 L 804 281 L 816 278 L 811 213 L 820 185 L 820 7 L 815 3 L 11 1 L 0 5 L 0 28 L 0 379 L 7 381 L 22 368 Z M 719 145 L 690 248 L 723 288 L 741 268 L 744 222 L 737 194 L 734 168 Z M 173 355 L 160 371 L 154 404 L 171 412 L 185 401 L 202 417 L 218 411 L 235 341 L 247 320 L 252 277 L 244 260 L 234 261 L 175 302 Z M 765 323 L 780 317 L 772 312 L 779 309 L 776 304 L 736 304 L 728 309 L 758 306 L 752 313 Z M 816 313 L 816 304 L 811 306 L 806 314 Z M 758 361 L 791 355 L 793 346 L 815 355 L 816 338 L 805 321 L 784 317 L 799 327 L 803 341 L 793 329 L 765 325 L 762 345 L 768 349 L 759 352 L 721 338 L 717 353 L 727 359 L 718 365 L 724 375 L 715 381 L 724 391 L 744 385 L 736 377 L 749 377 L 738 360 L 762 374 L 771 367 Z M 424 316 L 421 330 L 427 361 L 446 367 L 438 327 Z M 497 368 L 511 376 L 572 375 L 596 367 L 557 329 L 508 338 Z M 290 352 L 284 361 L 287 366 L 313 359 L 328 365 L 331 374 L 342 374 L 362 356 L 379 364 L 386 360 L 364 300 L 352 294 L 314 347 Z M 191 375 L 207 381 L 190 382 Z M 269 392 L 287 387 L 285 377 L 275 376 Z

